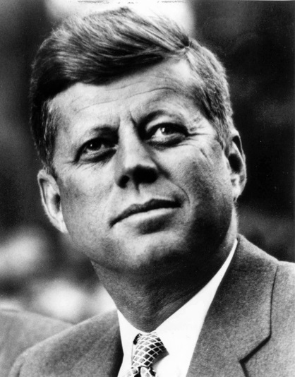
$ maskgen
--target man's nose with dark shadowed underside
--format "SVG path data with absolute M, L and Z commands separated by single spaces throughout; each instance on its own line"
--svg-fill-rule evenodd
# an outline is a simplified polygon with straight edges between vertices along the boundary
M 152 159 L 149 146 L 133 128 L 119 133 L 119 145 L 115 156 L 115 182 L 121 188 L 150 184 L 157 179 L 158 167 Z

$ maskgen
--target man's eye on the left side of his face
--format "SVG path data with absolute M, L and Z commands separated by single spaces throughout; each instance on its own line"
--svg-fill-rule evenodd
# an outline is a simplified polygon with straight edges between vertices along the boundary
M 114 141 L 95 138 L 83 144 L 78 153 L 78 160 L 103 160 L 113 154 L 115 148 Z

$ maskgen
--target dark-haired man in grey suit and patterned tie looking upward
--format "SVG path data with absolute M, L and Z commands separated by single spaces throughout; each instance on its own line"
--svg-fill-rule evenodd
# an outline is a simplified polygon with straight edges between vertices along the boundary
M 31 95 L 44 208 L 118 313 L 11 376 L 291 376 L 294 268 L 237 235 L 246 167 L 215 56 L 164 18 L 92 14 L 44 42 Z

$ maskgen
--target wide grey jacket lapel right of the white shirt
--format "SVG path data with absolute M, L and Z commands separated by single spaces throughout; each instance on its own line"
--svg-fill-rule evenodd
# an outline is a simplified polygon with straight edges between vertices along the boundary
M 239 237 L 231 265 L 207 313 L 188 377 L 242 377 L 243 359 L 270 337 L 277 262 Z

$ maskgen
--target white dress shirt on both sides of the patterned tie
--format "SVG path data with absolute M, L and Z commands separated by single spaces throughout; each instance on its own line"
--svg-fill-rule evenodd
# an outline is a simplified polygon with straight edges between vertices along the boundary
M 152 366 L 158 377 L 186 376 L 205 316 L 234 256 L 236 244 L 237 241 L 234 242 L 229 256 L 210 282 L 156 329 L 157 335 L 167 349 L 167 353 Z M 120 311 L 118 311 L 118 316 L 124 352 L 118 377 L 124 377 L 131 367 L 135 349 L 133 340 L 138 333 L 145 333 L 128 323 Z

